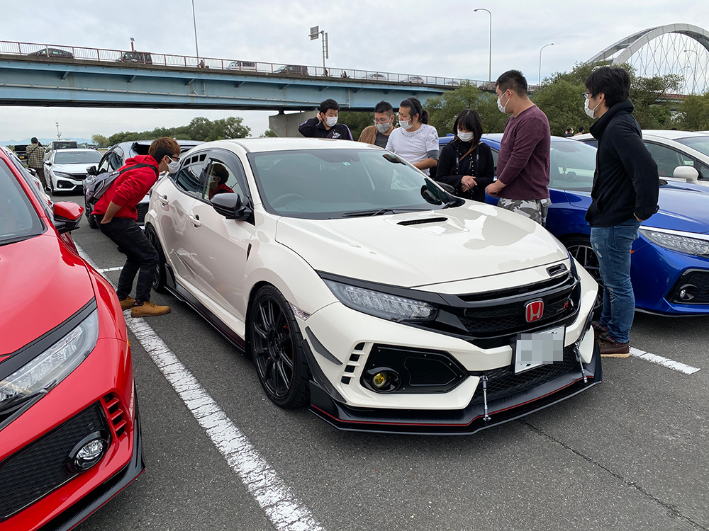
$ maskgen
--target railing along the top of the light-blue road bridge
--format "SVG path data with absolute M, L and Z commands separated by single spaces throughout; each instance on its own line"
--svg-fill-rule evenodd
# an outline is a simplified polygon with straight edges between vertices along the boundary
M 266 63 L 239 59 L 216 59 L 213 57 L 191 57 L 188 55 L 167 55 L 133 50 L 105 50 L 78 46 L 46 45 L 30 42 L 0 41 L 0 54 L 29 55 L 52 59 L 79 59 L 87 61 L 122 62 L 124 64 L 157 64 L 177 69 L 209 69 L 211 71 L 261 73 L 284 77 L 317 76 L 320 78 L 357 79 L 374 83 L 401 83 L 406 85 L 432 85 L 454 88 L 471 84 L 484 90 L 495 90 L 494 82 L 460 79 L 454 77 L 425 76 L 420 74 L 397 74 L 361 69 L 312 67 L 303 64 Z

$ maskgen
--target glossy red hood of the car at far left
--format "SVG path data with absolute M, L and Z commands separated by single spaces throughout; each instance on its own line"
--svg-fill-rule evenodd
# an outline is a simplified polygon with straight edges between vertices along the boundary
M 69 319 L 94 297 L 89 271 L 56 234 L 0 246 L 0 355 Z

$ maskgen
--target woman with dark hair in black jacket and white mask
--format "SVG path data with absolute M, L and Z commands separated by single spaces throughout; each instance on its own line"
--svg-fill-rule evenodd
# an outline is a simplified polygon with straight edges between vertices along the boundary
M 435 180 L 450 184 L 461 198 L 485 201 L 485 187 L 495 176 L 495 162 L 487 144 L 480 142 L 483 125 L 474 110 L 466 109 L 453 124 L 452 139 L 443 147 Z

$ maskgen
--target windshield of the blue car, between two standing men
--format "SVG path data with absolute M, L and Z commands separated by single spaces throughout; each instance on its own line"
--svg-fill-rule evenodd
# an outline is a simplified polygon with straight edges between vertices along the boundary
M 596 148 L 581 142 L 552 142 L 549 188 L 590 192 L 596 171 Z

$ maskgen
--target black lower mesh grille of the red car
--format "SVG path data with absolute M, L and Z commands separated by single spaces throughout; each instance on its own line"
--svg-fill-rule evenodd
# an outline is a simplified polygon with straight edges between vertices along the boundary
M 86 435 L 107 430 L 94 404 L 0 463 L 0 520 L 5 520 L 73 479 L 67 457 Z

